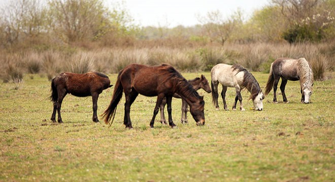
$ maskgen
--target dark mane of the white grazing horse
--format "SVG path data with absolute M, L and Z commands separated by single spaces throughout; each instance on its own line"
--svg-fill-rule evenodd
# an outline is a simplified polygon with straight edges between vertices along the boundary
M 243 71 L 244 72 L 244 77 L 243 77 L 243 82 L 242 82 L 242 89 L 247 88 L 248 91 L 251 93 L 251 96 L 249 99 L 254 100 L 258 93 L 260 92 L 260 86 L 256 80 L 256 78 L 243 66 L 239 64 L 235 64 L 232 66 L 233 71 L 237 71 L 236 74 L 239 72 Z

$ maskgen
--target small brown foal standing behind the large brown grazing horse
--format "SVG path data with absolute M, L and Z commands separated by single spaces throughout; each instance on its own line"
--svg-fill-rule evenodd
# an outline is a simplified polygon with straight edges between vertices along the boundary
M 192 85 L 192 87 L 195 89 L 195 90 L 198 90 L 200 88 L 203 88 L 207 93 L 211 93 L 211 87 L 210 85 L 208 84 L 208 80 L 206 79 L 206 77 L 204 75 L 201 75 L 201 77 L 196 77 L 194 79 L 191 79 L 191 80 L 188 80 L 188 82 Z M 181 97 L 175 93 L 173 95 L 174 98 L 179 98 L 181 99 Z M 164 107 L 165 107 L 165 104 L 166 104 L 166 98 L 164 98 L 162 100 L 162 104 L 159 106 L 159 109 L 160 109 L 160 123 L 164 123 L 164 124 L 167 124 L 166 123 L 166 120 L 165 120 L 165 116 L 164 116 Z M 188 104 L 186 101 L 184 101 L 182 99 L 182 116 L 181 116 L 181 122 L 184 124 L 184 123 L 187 123 L 187 110 L 188 110 Z

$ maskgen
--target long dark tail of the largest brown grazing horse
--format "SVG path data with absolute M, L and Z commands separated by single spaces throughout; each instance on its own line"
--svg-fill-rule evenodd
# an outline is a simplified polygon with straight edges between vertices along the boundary
M 111 100 L 111 103 L 103 114 L 105 123 L 109 124 L 109 125 L 111 125 L 113 123 L 113 120 L 114 120 L 114 117 L 115 117 L 115 112 L 116 112 L 116 107 L 117 107 L 117 105 L 119 104 L 119 102 L 122 98 L 123 87 L 122 87 L 121 80 L 120 80 L 121 73 L 122 73 L 122 70 L 119 72 L 119 75 L 117 76 L 117 80 L 116 80 L 116 83 L 115 83 L 114 93 L 113 93 L 113 98 Z M 109 123 L 111 121 L 111 116 L 112 115 L 113 115 L 113 120 L 112 120 L 111 123 Z

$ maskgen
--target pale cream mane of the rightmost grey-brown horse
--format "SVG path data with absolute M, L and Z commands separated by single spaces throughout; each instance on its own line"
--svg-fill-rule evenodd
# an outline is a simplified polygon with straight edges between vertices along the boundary
M 309 89 L 312 90 L 314 81 L 313 70 L 305 58 L 298 59 L 298 69 L 300 72 L 300 83 L 305 84 Z

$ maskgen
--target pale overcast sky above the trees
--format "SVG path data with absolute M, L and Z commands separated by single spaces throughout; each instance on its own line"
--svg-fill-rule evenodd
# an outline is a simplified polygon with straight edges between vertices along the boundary
M 108 1 L 107 1 L 108 2 Z M 196 15 L 219 10 L 225 17 L 241 9 L 245 18 L 269 5 L 269 0 L 125 0 L 126 9 L 142 26 L 192 26 L 198 24 Z

